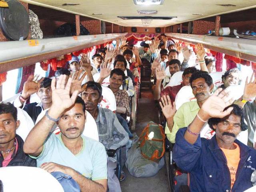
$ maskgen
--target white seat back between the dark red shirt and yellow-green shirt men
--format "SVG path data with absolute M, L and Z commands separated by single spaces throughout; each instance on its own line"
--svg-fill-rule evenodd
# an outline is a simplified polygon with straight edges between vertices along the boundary
M 191 86 L 183 86 L 175 98 L 176 110 L 178 110 L 182 104 L 189 101 L 196 101 L 196 98 L 192 92 Z

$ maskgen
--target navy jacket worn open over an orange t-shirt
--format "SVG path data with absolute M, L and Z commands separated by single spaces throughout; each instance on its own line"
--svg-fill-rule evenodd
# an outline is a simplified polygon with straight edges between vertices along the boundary
M 190 173 L 191 192 L 230 192 L 230 172 L 224 153 L 216 136 L 210 140 L 200 138 L 189 144 L 184 134 L 187 128 L 178 130 L 173 157 L 177 166 Z M 256 169 L 256 150 L 238 140 L 240 162 L 232 192 L 243 192 L 252 187 L 251 174 Z

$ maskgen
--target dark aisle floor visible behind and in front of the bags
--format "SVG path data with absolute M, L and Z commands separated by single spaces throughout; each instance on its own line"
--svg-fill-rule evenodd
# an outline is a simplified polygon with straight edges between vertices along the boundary
M 143 128 L 150 121 L 158 123 L 153 94 L 151 90 L 141 90 L 135 130 L 138 136 L 140 136 Z M 126 167 L 124 167 L 124 172 L 126 179 L 120 183 L 122 192 L 169 192 L 166 166 L 159 170 L 155 176 L 150 178 L 134 178 L 129 174 Z

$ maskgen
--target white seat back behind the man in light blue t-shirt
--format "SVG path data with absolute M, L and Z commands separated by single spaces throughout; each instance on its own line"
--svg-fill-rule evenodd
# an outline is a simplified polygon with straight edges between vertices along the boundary
M 46 109 L 48 110 L 48 109 Z M 43 110 L 37 117 L 36 119 L 36 124 L 38 121 L 40 121 L 44 115 L 46 110 Z M 60 128 L 55 124 L 51 130 L 52 133 L 54 134 L 59 134 L 60 133 Z M 83 136 L 92 138 L 96 141 L 99 141 L 99 135 L 98 135 L 98 128 L 97 128 L 97 124 L 94 120 L 94 118 L 92 117 L 92 115 L 86 111 L 86 122 L 84 124 L 84 132 L 82 133 Z

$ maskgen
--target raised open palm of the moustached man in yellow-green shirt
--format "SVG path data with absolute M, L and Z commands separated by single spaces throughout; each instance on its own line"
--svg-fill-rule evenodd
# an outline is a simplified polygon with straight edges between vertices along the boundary
M 170 96 L 164 95 L 163 97 L 161 97 L 161 101 L 159 102 L 159 104 L 166 119 L 174 117 L 176 113 L 176 106 L 175 102 L 173 102 L 172 105 Z

